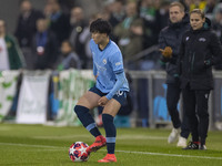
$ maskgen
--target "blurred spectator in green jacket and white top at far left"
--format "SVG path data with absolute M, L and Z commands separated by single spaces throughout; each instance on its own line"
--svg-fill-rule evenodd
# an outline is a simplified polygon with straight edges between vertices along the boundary
M 14 37 L 7 33 L 4 20 L 0 19 L 0 71 L 24 66 L 24 59 Z

